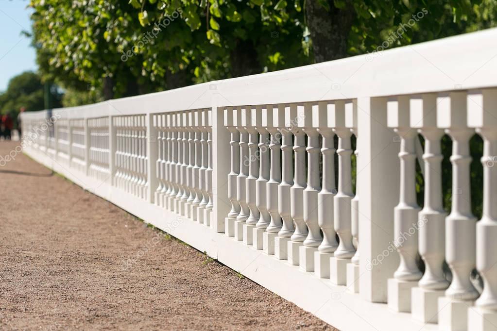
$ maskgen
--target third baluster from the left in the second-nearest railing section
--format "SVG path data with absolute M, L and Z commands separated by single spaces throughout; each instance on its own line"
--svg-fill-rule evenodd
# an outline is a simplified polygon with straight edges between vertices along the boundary
M 248 177 L 246 179 L 246 198 L 248 209 L 250 211 L 246 224 L 243 227 L 244 244 L 252 245 L 252 232 L 255 224 L 259 220 L 260 213 L 257 209 L 256 181 L 259 177 L 259 149 L 258 149 L 258 132 L 256 130 L 257 119 L 256 109 L 247 107 L 245 112 L 245 130 L 248 132 L 249 154 L 244 162 L 248 163 Z

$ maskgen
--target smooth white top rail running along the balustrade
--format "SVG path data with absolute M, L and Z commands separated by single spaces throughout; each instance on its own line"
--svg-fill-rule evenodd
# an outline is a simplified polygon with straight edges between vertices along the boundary
M 347 59 L 56 109 L 94 117 L 342 100 L 497 86 L 497 28 Z M 305 88 L 303 88 L 305 87 Z M 25 116 L 34 116 L 24 113 Z

